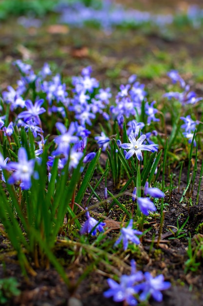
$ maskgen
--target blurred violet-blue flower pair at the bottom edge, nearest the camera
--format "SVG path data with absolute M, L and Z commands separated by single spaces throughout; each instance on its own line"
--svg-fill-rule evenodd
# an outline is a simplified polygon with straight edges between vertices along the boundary
M 161 302 L 163 300 L 161 291 L 168 289 L 171 284 L 165 282 L 162 274 L 153 277 L 149 272 L 137 271 L 133 260 L 130 263 L 130 275 L 122 275 L 119 283 L 112 279 L 107 280 L 110 289 L 104 292 L 104 296 L 112 297 L 114 302 L 125 302 L 125 305 L 129 306 L 148 301 L 150 297 L 156 302 Z

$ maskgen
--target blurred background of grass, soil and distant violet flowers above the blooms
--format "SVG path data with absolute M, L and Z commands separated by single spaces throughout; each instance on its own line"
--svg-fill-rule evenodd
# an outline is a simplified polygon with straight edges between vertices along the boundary
M 202 90 L 202 0 L 0 0 L 0 90 L 21 59 L 45 62 L 64 82 L 92 66 L 104 86 L 131 74 L 159 90 L 177 69 Z

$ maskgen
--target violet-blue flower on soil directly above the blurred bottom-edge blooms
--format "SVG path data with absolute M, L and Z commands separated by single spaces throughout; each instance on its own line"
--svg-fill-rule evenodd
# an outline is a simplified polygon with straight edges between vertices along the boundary
M 126 228 L 125 227 L 121 228 L 120 230 L 121 235 L 118 238 L 118 240 L 116 240 L 116 242 L 114 243 L 114 246 L 118 245 L 120 241 L 123 240 L 123 249 L 125 251 L 128 247 L 129 241 L 135 244 L 140 243 L 139 238 L 135 235 L 141 235 L 142 232 L 133 229 L 132 226 L 133 226 L 133 219 L 130 219 L 129 225 Z

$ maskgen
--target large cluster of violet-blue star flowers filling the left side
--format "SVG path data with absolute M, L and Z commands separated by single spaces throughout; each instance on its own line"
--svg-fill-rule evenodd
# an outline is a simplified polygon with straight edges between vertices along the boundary
M 58 74 L 53 76 L 50 81 L 45 80 L 47 77 L 52 76 L 52 71 L 47 63 L 44 64 L 37 74 L 34 73 L 31 65 L 24 64 L 20 60 L 16 61 L 14 65 L 18 67 L 18 70 L 21 73 L 21 79 L 17 82 L 16 89 L 8 87 L 7 91 L 3 91 L 3 101 L 10 105 L 11 111 L 24 108 L 26 108 L 26 110 L 20 111 L 16 116 L 16 120 L 10 122 L 8 126 L 5 126 L 5 116 L 1 116 L 0 128 L 4 131 L 4 136 L 6 137 L 11 137 L 16 126 L 19 131 L 22 128 L 24 128 L 26 132 L 31 131 L 36 143 L 36 160 L 40 161 L 39 155 L 43 153 L 44 144 L 46 142 L 42 130 L 41 115 L 44 113 L 46 113 L 45 115 L 51 115 L 53 112 L 59 112 L 62 118 L 65 117 L 66 108 L 70 107 L 69 111 L 71 111 L 71 106 L 74 105 L 78 95 L 80 95 L 81 98 L 82 94 L 85 96 L 87 91 L 92 92 L 93 88 L 98 87 L 98 82 L 90 77 L 92 71 L 91 67 L 84 68 L 82 70 L 82 76 L 74 78 L 73 84 L 75 85 L 75 89 L 73 89 L 73 99 L 76 100 L 72 101 L 68 98 L 66 85 L 61 82 L 61 78 Z M 30 87 L 34 87 L 36 92 L 39 94 L 45 94 L 45 99 L 36 99 L 35 102 L 24 100 L 23 95 Z M 100 103 L 97 104 L 97 110 L 99 109 L 100 113 L 109 103 L 109 98 L 111 98 L 110 89 L 100 88 L 97 94 L 97 102 Z M 80 105 L 85 108 L 87 106 L 85 104 L 86 101 L 81 99 L 79 101 Z M 91 103 L 93 108 L 94 101 Z M 45 108 L 43 106 L 45 106 Z M 94 111 L 96 112 L 95 109 Z M 102 110 L 102 112 L 104 111 Z M 84 149 L 87 145 L 87 136 L 90 134 L 90 131 L 86 128 L 86 124 L 92 124 L 91 120 L 95 118 L 95 114 L 92 112 L 92 109 L 90 113 L 84 112 L 83 109 L 81 109 L 81 116 L 83 117 L 78 117 L 78 114 L 79 112 L 75 113 L 75 118 L 78 119 L 80 123 L 78 121 L 73 121 L 68 128 L 66 128 L 61 122 L 56 123 L 56 129 L 61 133 L 61 135 L 55 137 L 55 150 L 51 153 L 47 161 L 49 176 L 50 168 L 53 165 L 55 157 L 60 157 L 58 161 L 59 170 L 63 169 L 68 160 L 69 169 L 71 170 L 77 167 L 82 158 L 83 163 L 85 164 L 90 162 L 96 154 L 95 152 L 90 152 L 86 156 L 83 156 Z M 32 175 L 35 177 L 37 177 L 37 175 L 35 175 L 34 169 L 31 167 L 34 160 L 28 161 L 25 157 L 26 152 L 24 152 L 24 154 L 23 152 L 24 149 L 20 148 L 18 153 L 20 156 L 23 156 L 23 158 L 20 158 L 25 162 L 25 164 L 26 161 L 30 164 L 29 171 L 26 171 L 23 168 L 22 173 L 24 173 L 24 175 L 22 175 L 20 172 L 22 166 L 20 160 L 18 160 L 18 165 L 16 164 L 17 162 L 14 162 L 14 164 L 9 163 L 8 165 L 12 165 L 13 168 L 7 167 L 7 170 L 12 173 L 8 183 L 14 184 L 19 181 L 22 189 L 29 189 L 31 187 Z M 82 169 L 83 167 L 81 167 L 81 171 Z

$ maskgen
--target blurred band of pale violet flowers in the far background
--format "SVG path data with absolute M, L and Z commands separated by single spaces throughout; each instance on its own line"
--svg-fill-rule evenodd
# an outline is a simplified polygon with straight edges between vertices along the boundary
M 97 2 L 96 2 L 97 3 Z M 58 4 L 57 12 L 61 13 L 60 22 L 68 23 L 70 26 L 82 27 L 86 22 L 93 22 L 100 25 L 105 31 L 110 32 L 116 26 L 123 24 L 129 26 L 140 26 L 143 24 L 156 25 L 163 30 L 168 24 L 171 24 L 176 16 L 172 14 L 151 14 L 147 11 L 135 9 L 124 9 L 119 3 L 113 4 L 109 0 L 101 1 L 101 5 L 95 7 L 85 6 L 80 1 L 74 1 L 67 4 Z M 184 17 L 187 18 L 191 26 L 199 28 L 203 19 L 203 9 L 197 5 L 189 5 Z

